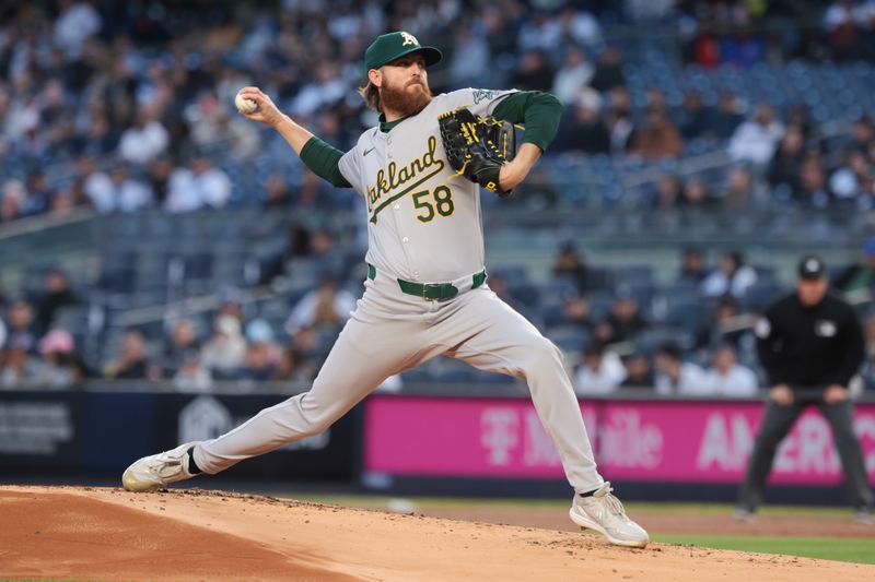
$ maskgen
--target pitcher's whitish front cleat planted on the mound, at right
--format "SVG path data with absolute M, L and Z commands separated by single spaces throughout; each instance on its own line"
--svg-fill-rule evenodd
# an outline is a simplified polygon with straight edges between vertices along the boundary
M 611 495 L 610 482 L 587 497 L 574 496 L 569 515 L 583 528 L 595 530 L 617 546 L 643 548 L 650 542 L 648 532 L 626 515 L 619 499 Z

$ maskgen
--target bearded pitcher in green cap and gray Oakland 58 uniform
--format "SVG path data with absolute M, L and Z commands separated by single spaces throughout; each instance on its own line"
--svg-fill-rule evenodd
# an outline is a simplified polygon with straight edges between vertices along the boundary
M 561 105 L 539 92 L 465 88 L 433 96 L 427 68 L 441 52 L 412 35 L 380 36 L 365 51 L 366 104 L 380 124 L 340 152 L 282 114 L 257 87 L 240 92 L 241 112 L 278 131 L 304 164 L 368 204 L 365 292 L 313 388 L 221 437 L 135 462 L 122 476 L 150 491 L 328 428 L 388 376 L 435 356 L 525 379 L 575 495 L 571 519 L 617 545 L 644 547 L 596 471 L 561 352 L 489 289 L 480 187 L 506 195 L 556 134 Z M 509 123 L 524 123 L 513 151 Z

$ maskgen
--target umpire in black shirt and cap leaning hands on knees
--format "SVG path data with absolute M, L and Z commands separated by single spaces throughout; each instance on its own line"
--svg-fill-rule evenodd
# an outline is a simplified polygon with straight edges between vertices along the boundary
M 757 351 L 773 388 L 754 443 L 737 519 L 752 519 L 778 444 L 802 411 L 815 405 L 832 427 L 858 520 L 871 521 L 872 489 L 848 392 L 863 363 L 863 332 L 853 308 L 828 295 L 828 285 L 824 262 L 818 257 L 803 258 L 796 293 L 769 307 L 756 324 Z

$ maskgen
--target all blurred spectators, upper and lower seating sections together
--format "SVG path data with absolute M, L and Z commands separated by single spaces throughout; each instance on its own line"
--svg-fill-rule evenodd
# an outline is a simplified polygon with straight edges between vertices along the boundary
M 328 19 L 328 3 L 319 1 L 0 2 L 0 233 L 7 223 L 72 209 L 354 211 L 357 197 L 303 171 L 283 144 L 233 111 L 233 97 L 259 85 L 347 149 L 375 122 L 357 93 L 361 56 L 388 28 L 415 32 L 444 51 L 445 64 L 431 76 L 435 92 L 479 85 L 555 93 L 565 118 L 545 164 L 569 156 L 658 165 L 725 152 L 730 163 L 716 175 L 660 166 L 657 178 L 627 192 L 645 212 L 742 212 L 773 203 L 873 209 L 873 109 L 840 120 L 848 131 L 836 140 L 806 105 L 754 100 L 740 87 L 716 94 L 686 87 L 680 99 L 656 85 L 638 91 L 629 66 L 646 64 L 635 60 L 646 51 L 628 40 L 653 23 L 670 39 L 665 51 L 685 63 L 678 67 L 705 74 L 859 62 L 875 55 L 875 2 L 616 4 L 345 1 L 330 3 Z M 803 25 L 780 25 L 786 22 Z M 330 256 L 330 241 L 329 250 L 318 249 L 326 234 L 298 235 L 316 247 L 304 254 Z M 290 256 L 299 253 L 298 235 L 290 237 Z M 582 393 L 637 385 L 749 395 L 763 378 L 754 369 L 749 326 L 739 322 L 762 307 L 750 302 L 751 289 L 774 290 L 775 282 L 740 252 L 715 264 L 707 254 L 685 251 L 673 288 L 690 302 L 679 306 L 661 306 L 640 281 L 587 265 L 573 245 L 558 252 L 552 302 L 545 289 L 521 287 L 501 272 L 490 275 L 490 286 L 580 354 Z M 870 288 L 875 247 L 867 245 L 865 256 L 870 263 L 849 275 L 847 287 L 837 278 L 837 290 L 861 282 Z M 281 253 L 264 264 L 258 283 L 281 276 L 287 259 Z M 346 283 L 323 277 L 289 306 L 282 329 L 229 298 L 209 318 L 168 321 L 163 337 L 130 329 L 116 353 L 95 360 L 57 317 L 86 308 L 89 289 L 74 289 L 52 270 L 43 289 L 0 295 L 0 387 L 106 378 L 208 390 L 220 380 L 311 380 L 354 301 Z M 693 304 L 699 308 L 689 309 Z M 666 326 L 680 333 L 663 333 Z M 865 329 L 866 385 L 875 387 L 875 318 Z

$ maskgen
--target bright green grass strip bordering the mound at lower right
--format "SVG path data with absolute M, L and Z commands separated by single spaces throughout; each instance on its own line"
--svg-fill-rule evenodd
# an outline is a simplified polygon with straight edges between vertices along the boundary
M 805 558 L 875 563 L 875 538 L 768 537 L 742 535 L 655 535 L 654 542 L 692 544 L 716 549 L 784 554 Z

